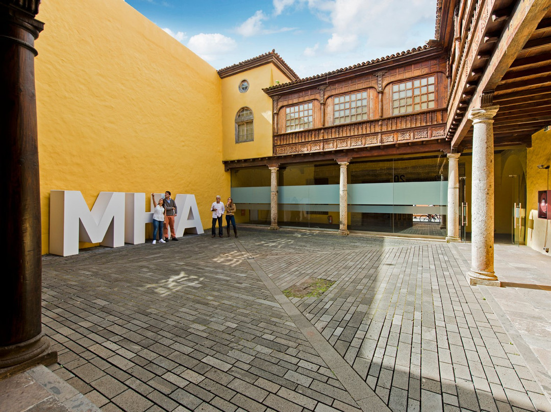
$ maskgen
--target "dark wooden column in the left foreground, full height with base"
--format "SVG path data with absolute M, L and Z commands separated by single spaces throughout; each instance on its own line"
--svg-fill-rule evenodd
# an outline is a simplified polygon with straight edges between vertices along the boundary
M 0 379 L 57 354 L 41 328 L 41 221 L 34 40 L 39 0 L 0 0 Z

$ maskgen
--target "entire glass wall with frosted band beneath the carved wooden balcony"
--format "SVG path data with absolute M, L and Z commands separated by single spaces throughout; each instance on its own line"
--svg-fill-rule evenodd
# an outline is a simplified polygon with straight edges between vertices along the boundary
M 278 225 L 339 229 L 336 162 L 280 167 Z M 237 221 L 270 224 L 268 167 L 231 172 Z M 348 229 L 446 236 L 445 154 L 352 161 L 348 165 Z

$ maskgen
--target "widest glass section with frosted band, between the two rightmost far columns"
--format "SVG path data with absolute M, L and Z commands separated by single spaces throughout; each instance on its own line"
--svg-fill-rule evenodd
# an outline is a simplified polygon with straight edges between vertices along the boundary
M 353 162 L 350 230 L 446 236 L 445 154 Z

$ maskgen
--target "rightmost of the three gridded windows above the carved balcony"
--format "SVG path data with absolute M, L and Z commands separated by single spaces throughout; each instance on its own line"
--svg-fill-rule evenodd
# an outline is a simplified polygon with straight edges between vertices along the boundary
M 392 85 L 392 114 L 433 109 L 435 77 L 429 76 Z

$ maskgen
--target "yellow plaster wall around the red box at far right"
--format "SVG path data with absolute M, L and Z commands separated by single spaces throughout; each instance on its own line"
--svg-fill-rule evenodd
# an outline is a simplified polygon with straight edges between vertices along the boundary
M 526 245 L 533 250 L 543 252 L 543 246 L 551 247 L 551 220 L 538 218 L 538 191 L 548 190 L 547 170 L 538 169 L 538 165 L 551 165 L 551 131 L 543 130 L 532 135 L 532 147 L 526 154 L 526 210 L 527 238 Z M 551 176 L 551 173 L 549 173 Z M 551 178 L 551 177 L 550 177 Z M 547 229 L 546 229 L 547 227 Z M 545 235 L 547 234 L 547 243 Z M 551 256 L 551 253 L 545 253 Z

